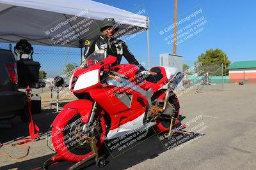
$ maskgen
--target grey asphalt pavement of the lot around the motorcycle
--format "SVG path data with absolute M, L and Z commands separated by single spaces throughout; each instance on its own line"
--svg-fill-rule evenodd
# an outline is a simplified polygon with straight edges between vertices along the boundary
M 109 153 L 107 145 L 104 169 L 256 169 L 256 85 L 225 85 L 224 91 L 207 89 L 210 90 L 180 96 L 182 123 L 188 124 L 186 131 L 195 134 L 167 141 L 163 134 L 151 129 L 147 137 L 137 136 L 138 141 L 130 148 L 116 148 Z M 35 115 L 43 133 L 41 140 L 28 144 L 31 148 L 24 159 L 1 157 L 0 169 L 35 169 L 49 159 L 54 152 L 46 146 L 45 133 L 54 117 L 56 114 L 49 111 Z M 12 123 L 12 129 L 0 129 L 1 143 L 28 136 L 28 129 L 24 128 L 27 125 L 19 118 Z M 20 148 L 7 146 L 0 153 L 24 153 Z M 52 169 L 66 169 L 72 164 L 60 162 Z M 84 164 L 85 168 L 96 167 L 91 161 Z

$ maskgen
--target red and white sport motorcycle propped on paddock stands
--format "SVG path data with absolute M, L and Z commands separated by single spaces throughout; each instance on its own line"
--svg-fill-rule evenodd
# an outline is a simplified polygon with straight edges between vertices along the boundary
M 78 99 L 66 104 L 52 122 L 52 144 L 62 159 L 88 159 L 105 140 L 149 127 L 168 132 L 170 138 L 179 124 L 180 105 L 173 89 L 182 73 L 152 67 L 156 74 L 151 75 L 139 73 L 132 64 L 111 67 L 115 62 L 116 57 L 94 52 L 72 75 L 69 89 Z

